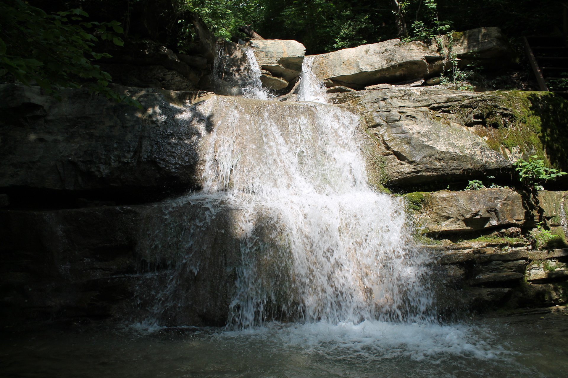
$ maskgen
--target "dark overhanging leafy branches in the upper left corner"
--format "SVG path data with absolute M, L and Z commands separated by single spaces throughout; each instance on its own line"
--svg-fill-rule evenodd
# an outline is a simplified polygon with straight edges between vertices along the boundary
M 94 50 L 95 43 L 122 46 L 119 22 L 86 21 L 81 9 L 54 14 L 20 0 L 0 3 L 0 78 L 37 84 L 59 97 L 61 87 L 86 87 L 94 94 L 139 105 L 108 87 L 111 76 L 93 61 L 110 57 Z

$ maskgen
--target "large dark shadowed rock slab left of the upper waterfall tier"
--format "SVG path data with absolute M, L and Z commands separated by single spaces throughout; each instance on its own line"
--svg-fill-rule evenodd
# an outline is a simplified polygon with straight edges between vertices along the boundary
M 9 99 L 1 105 L 0 193 L 13 206 L 26 196 L 140 203 L 143 194 L 128 201 L 128 193 L 155 200 L 199 189 L 198 146 L 213 125 L 188 105 L 204 93 L 175 92 L 182 101 L 173 105 L 161 91 L 115 88 L 143 109 L 86 90 L 65 90 L 58 102 L 37 87 L 0 87 Z

